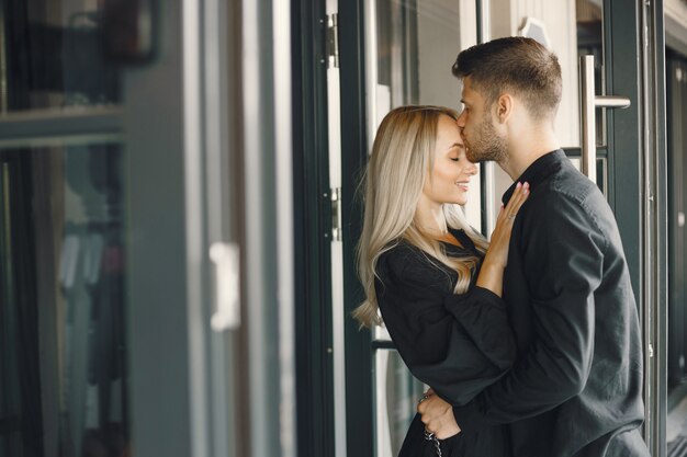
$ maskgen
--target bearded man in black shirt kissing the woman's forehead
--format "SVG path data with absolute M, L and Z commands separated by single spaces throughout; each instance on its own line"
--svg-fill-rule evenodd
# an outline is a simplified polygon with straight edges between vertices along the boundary
M 504 277 L 518 361 L 466 404 L 430 395 L 418 405 L 426 430 L 444 438 L 510 424 L 515 457 L 649 456 L 628 266 L 604 195 L 559 148 L 556 57 L 530 38 L 499 38 L 460 53 L 453 75 L 468 157 L 496 161 L 531 194 Z

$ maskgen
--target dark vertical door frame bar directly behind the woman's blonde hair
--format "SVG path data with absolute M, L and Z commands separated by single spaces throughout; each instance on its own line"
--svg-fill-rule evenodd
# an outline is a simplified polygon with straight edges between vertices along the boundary
M 339 2 L 339 56 L 341 80 L 341 188 L 344 214 L 344 300 L 350 316 L 362 300 L 356 272 L 354 249 L 362 228 L 359 179 L 368 162 L 364 67 L 364 1 Z M 371 333 L 346 320 L 346 431 L 347 453 L 374 455 L 373 373 Z

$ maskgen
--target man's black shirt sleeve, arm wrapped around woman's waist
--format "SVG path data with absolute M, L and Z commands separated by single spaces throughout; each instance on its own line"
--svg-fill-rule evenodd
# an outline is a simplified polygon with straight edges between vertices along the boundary
M 594 292 L 601 282 L 606 239 L 593 212 L 554 194 L 523 225 L 518 248 L 530 293 L 533 340 L 506 376 L 453 414 L 464 431 L 549 411 L 579 393 L 594 354 Z M 514 235 L 515 236 L 515 235 Z M 506 274 L 509 274 L 506 272 Z

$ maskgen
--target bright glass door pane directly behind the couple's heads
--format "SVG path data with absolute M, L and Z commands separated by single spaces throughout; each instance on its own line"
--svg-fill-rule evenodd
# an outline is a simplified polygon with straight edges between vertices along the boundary
M 392 108 L 428 104 L 461 110 L 461 85 L 451 73 L 460 49 L 476 43 L 475 2 L 458 0 L 368 0 L 373 26 L 365 39 L 374 56 L 368 70 L 370 146 Z M 480 176 L 472 180 L 465 214 L 481 230 Z

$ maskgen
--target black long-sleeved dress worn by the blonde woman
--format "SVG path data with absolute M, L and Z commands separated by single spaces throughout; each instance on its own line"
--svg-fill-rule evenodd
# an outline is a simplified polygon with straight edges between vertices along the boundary
M 444 243 L 448 255 L 480 255 L 462 230 L 463 248 Z M 515 340 L 504 301 L 472 285 L 453 294 L 458 275 L 418 248 L 401 241 L 376 265 L 376 298 L 384 324 L 410 373 L 446 401 L 460 405 L 513 365 Z M 476 275 L 474 275 L 476 276 Z M 416 414 L 399 457 L 437 456 Z M 440 442 L 443 457 L 509 457 L 508 431 L 493 426 Z

